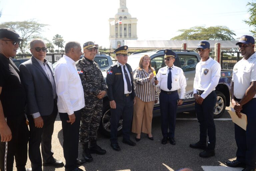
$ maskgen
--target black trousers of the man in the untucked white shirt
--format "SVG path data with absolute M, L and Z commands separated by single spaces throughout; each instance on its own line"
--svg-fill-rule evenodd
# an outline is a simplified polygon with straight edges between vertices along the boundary
M 63 130 L 63 153 L 66 160 L 65 171 L 77 168 L 79 128 L 81 121 L 81 110 L 74 111 L 76 120 L 71 125 L 67 113 L 59 113 Z

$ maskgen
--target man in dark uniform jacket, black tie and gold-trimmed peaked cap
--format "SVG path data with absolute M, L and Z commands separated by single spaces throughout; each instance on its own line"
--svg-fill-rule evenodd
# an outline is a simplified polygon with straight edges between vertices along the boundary
M 130 140 L 135 93 L 132 68 L 127 64 L 127 49 L 128 46 L 121 46 L 114 51 L 117 62 L 110 67 L 106 78 L 106 83 L 108 85 L 108 98 L 111 108 L 110 146 L 116 151 L 121 150 L 117 142 L 117 128 L 121 116 L 123 118 L 122 142 L 130 146 L 136 145 Z

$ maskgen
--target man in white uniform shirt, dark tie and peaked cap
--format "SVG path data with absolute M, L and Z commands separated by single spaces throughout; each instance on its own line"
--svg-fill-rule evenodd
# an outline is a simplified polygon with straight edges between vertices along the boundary
M 156 86 L 161 89 L 159 95 L 161 130 L 163 135 L 161 143 L 166 144 L 169 139 L 170 144 L 175 145 L 174 133 L 177 107 L 183 103 L 187 83 L 182 69 L 173 64 L 175 58 L 177 58 L 177 54 L 169 49 L 165 49 L 164 54 L 166 67 L 160 68 L 156 76 L 158 80 Z M 178 89 L 180 89 L 180 97 Z

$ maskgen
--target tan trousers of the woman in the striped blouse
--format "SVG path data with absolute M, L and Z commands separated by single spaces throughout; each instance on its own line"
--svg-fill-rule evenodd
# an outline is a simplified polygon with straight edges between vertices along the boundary
M 135 97 L 136 103 L 133 107 L 132 132 L 140 134 L 141 132 L 150 134 L 153 117 L 154 101 L 143 102 Z

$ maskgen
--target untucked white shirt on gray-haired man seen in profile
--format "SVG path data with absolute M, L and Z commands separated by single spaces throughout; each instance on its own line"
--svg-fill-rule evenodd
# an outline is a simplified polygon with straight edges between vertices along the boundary
M 72 115 L 85 106 L 84 91 L 75 61 L 66 55 L 58 61 L 54 71 L 58 110 Z

